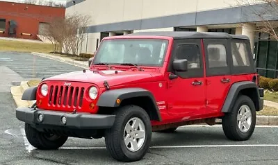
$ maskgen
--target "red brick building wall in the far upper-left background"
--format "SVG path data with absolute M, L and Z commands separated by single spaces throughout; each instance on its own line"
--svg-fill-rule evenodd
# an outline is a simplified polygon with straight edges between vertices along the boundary
M 65 8 L 0 1 L 0 21 L 6 19 L 6 30 L 1 33 L 0 28 L 0 37 L 8 37 L 9 21 L 14 20 L 17 22 L 15 37 L 37 40 L 40 22 L 49 23 L 55 17 L 65 17 Z

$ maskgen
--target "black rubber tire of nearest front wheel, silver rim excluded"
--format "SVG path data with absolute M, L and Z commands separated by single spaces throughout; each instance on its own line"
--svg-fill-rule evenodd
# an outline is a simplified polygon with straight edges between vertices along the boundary
M 149 115 L 136 105 L 120 107 L 113 114 L 116 115 L 114 125 L 105 132 L 106 148 L 109 153 L 114 159 L 121 162 L 135 162 L 142 159 L 147 153 L 152 139 L 152 125 Z M 134 117 L 144 123 L 145 141 L 139 150 L 132 152 L 124 144 L 124 129 L 126 123 Z

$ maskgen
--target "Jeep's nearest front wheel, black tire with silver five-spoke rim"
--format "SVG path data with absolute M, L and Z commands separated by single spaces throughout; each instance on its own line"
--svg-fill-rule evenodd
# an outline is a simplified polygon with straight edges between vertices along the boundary
M 106 148 L 114 159 L 134 162 L 147 153 L 151 139 L 152 126 L 149 115 L 136 105 L 120 107 L 111 129 L 106 130 Z

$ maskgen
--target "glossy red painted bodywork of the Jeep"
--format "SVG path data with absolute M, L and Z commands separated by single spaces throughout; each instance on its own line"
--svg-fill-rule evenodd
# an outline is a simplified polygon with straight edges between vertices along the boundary
M 104 40 L 124 38 L 168 40 L 169 44 L 167 46 L 163 67 L 140 66 L 145 71 L 138 71 L 136 67 L 131 66 L 111 65 L 110 70 L 104 65 L 91 65 L 90 69 L 86 70 L 85 73 L 83 73 L 83 71 L 77 71 L 74 73 L 54 76 L 52 78 L 48 78 L 47 81 L 44 81 L 44 83 L 47 83 L 49 86 L 58 85 L 59 87 L 65 87 L 65 83 L 71 83 L 73 87 L 84 87 L 85 95 L 83 96 L 83 105 L 81 107 L 64 105 L 56 107 L 52 106 L 49 104 L 49 96 L 44 97 L 40 94 L 40 85 L 38 87 L 39 92 L 37 94 L 37 103 L 39 103 L 38 107 L 45 110 L 57 110 L 64 112 L 73 112 L 76 110 L 77 112 L 89 112 L 92 114 L 97 113 L 97 99 L 101 93 L 106 91 L 106 88 L 104 87 L 104 80 L 107 80 L 111 87 L 110 90 L 127 87 L 141 87 L 152 92 L 162 118 L 162 121 L 152 121 L 152 125 L 206 119 L 224 116 L 221 112 L 221 108 L 227 93 L 229 92 L 229 88 L 233 83 L 243 80 L 252 81 L 252 78 L 256 76 L 256 73 L 254 73 L 240 76 L 228 75 L 206 77 L 206 54 L 204 51 L 204 41 L 199 39 L 202 43 L 204 77 L 186 79 L 176 78 L 174 80 L 169 80 L 170 72 L 167 71 L 167 67 L 170 63 L 169 61 L 173 49 L 174 40 L 172 37 L 116 36 L 106 37 Z M 118 72 L 115 73 L 115 70 Z M 229 79 L 230 81 L 227 83 L 221 83 L 222 79 Z M 202 81 L 203 84 L 193 86 L 192 83 L 196 81 Z M 92 99 L 88 96 L 88 88 L 91 86 L 95 86 L 99 89 L 98 97 L 95 101 L 92 101 Z M 95 105 L 92 110 L 89 108 L 90 103 Z

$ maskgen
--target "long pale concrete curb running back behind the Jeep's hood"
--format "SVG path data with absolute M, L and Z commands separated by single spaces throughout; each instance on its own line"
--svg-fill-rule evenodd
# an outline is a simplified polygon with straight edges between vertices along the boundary
M 72 64 L 76 67 L 81 67 L 83 69 L 88 69 L 88 65 L 87 64 L 82 64 L 83 62 L 79 62 L 79 61 L 76 61 L 76 60 L 72 60 L 72 59 L 69 59 L 69 58 L 60 58 L 60 57 L 56 57 L 55 55 L 49 55 L 47 53 L 37 53 L 37 52 L 32 52 L 31 54 L 33 55 L 38 55 L 42 58 L 49 58 L 51 60 L 56 60 L 56 61 L 59 61 L 59 62 L 64 62 L 66 64 Z

